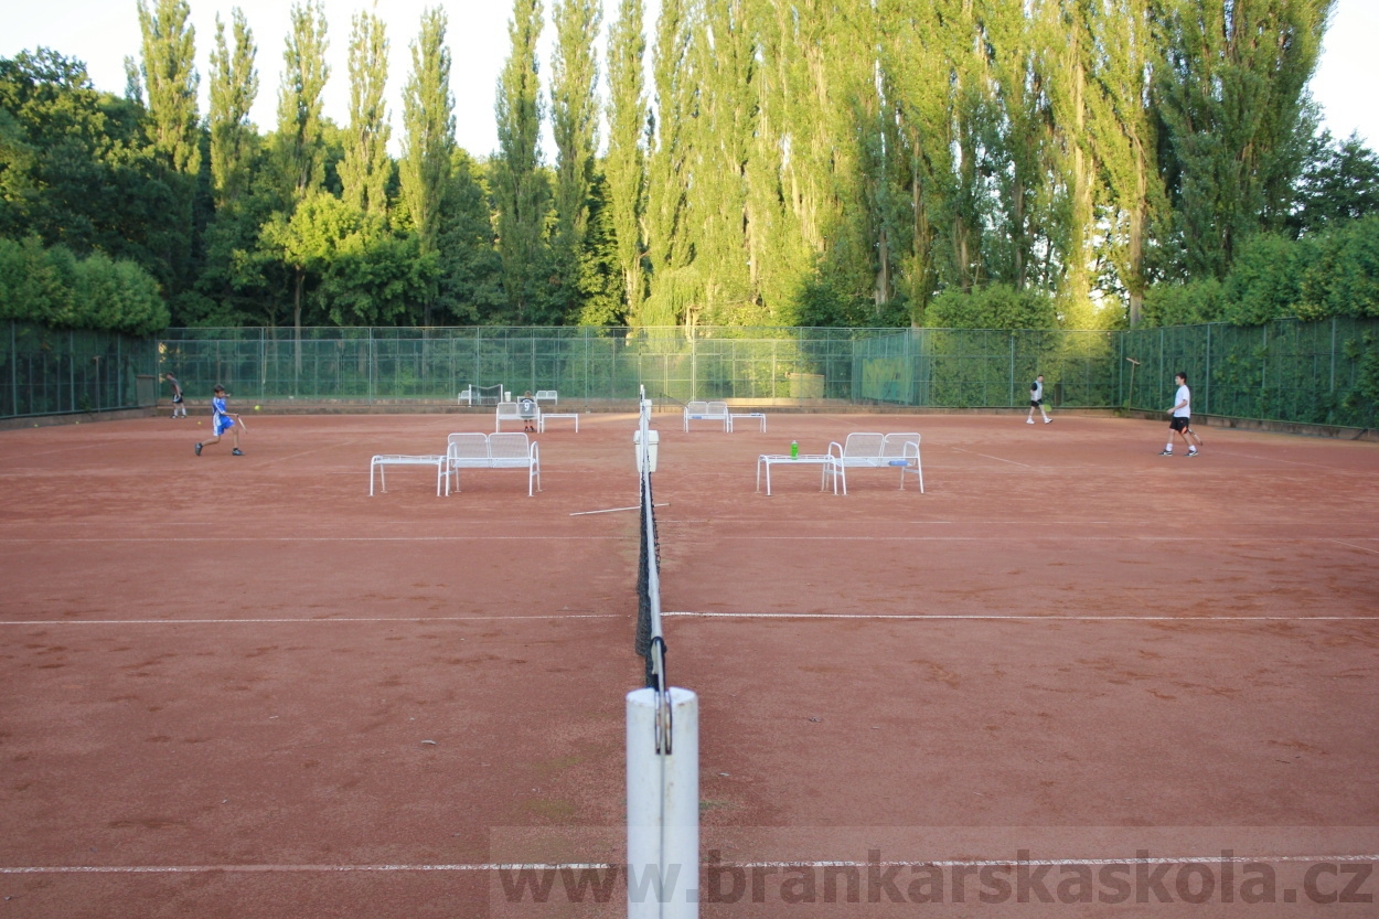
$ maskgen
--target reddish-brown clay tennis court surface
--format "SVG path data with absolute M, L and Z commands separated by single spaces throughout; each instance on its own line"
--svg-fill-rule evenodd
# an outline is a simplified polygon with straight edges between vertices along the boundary
M 538 436 L 535 498 L 517 471 L 437 498 L 422 469 L 368 497 L 372 454 L 488 415 L 250 422 L 233 458 L 193 455 L 194 417 L 0 433 L 0 919 L 623 915 L 621 889 L 505 898 L 491 867 L 623 857 L 637 515 L 571 515 L 636 502 L 634 418 Z M 1302 860 L 1372 864 L 1379 444 L 1208 428 L 1162 458 L 1164 424 L 1091 415 L 655 426 L 669 671 L 701 698 L 702 846 L 729 869 L 705 916 L 1372 918 L 986 905 L 975 876 L 920 907 L 909 869 L 907 902 L 873 902 L 867 862 L 1231 847 L 1281 887 Z M 918 431 L 927 493 L 862 471 L 821 494 L 818 466 L 754 491 L 757 454 L 851 431 Z M 822 873 L 785 898 L 786 865 L 825 861 L 862 865 L 859 900 L 847 868 L 834 902 Z

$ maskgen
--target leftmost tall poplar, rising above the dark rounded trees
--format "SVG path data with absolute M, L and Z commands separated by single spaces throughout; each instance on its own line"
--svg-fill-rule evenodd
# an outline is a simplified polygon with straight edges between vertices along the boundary
M 196 29 L 186 0 L 138 0 L 143 51 L 143 88 L 153 121 L 153 146 L 174 170 L 196 175 L 201 146 L 196 91 Z

